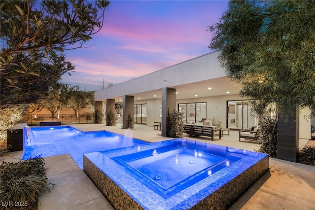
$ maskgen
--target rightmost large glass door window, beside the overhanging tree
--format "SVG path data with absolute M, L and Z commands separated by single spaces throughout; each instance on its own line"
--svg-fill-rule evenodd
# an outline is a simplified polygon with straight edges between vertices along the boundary
M 257 117 L 252 116 L 251 102 L 247 100 L 227 102 L 227 128 L 249 129 L 258 125 Z

